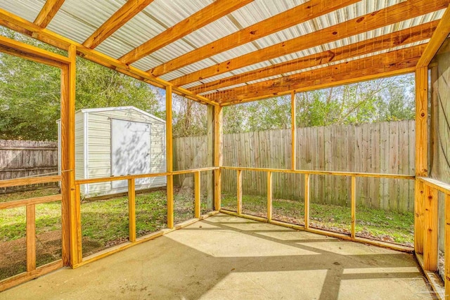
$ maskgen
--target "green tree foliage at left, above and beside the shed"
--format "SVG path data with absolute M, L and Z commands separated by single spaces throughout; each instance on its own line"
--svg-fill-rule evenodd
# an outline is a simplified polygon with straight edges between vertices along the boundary
M 0 28 L 0 34 L 47 51 L 65 51 Z M 155 94 L 142 81 L 77 58 L 75 109 L 132 105 L 164 117 Z M 56 141 L 60 119 L 60 70 L 0 53 L 0 138 Z

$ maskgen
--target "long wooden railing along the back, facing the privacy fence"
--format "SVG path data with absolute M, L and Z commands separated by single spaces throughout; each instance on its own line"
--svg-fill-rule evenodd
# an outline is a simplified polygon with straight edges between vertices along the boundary
M 358 177 L 371 177 L 371 178 L 395 178 L 395 179 L 406 179 L 414 180 L 415 176 L 411 175 L 399 175 L 399 174 L 376 174 L 376 173 L 358 173 L 358 172 L 340 172 L 340 171 L 309 171 L 309 170 L 292 170 L 292 169 L 264 169 L 264 168 L 245 168 L 245 167 L 221 167 L 225 170 L 235 170 L 237 178 L 237 211 L 228 211 L 221 209 L 221 211 L 227 214 L 236 214 L 237 216 L 243 216 L 249 219 L 255 219 L 257 221 L 266 221 L 268 223 L 274 223 L 276 225 L 287 226 L 295 229 L 304 229 L 314 233 L 326 234 L 330 236 L 344 238 L 346 240 L 354 240 L 357 242 L 366 242 L 369 244 L 382 245 L 383 247 L 390 247 L 392 249 L 397 249 L 401 251 L 412 252 L 411 247 L 404 247 L 397 244 L 390 244 L 387 242 L 381 242 L 377 240 L 369 240 L 364 237 L 356 236 L 356 178 Z M 251 216 L 242 213 L 242 171 L 258 171 L 265 172 L 267 174 L 267 218 L 261 218 L 258 216 Z M 273 173 L 288 173 L 288 174 L 304 174 L 304 226 L 298 226 L 291 223 L 285 223 L 280 221 L 272 220 L 272 174 Z M 310 176 L 311 175 L 331 175 L 331 176 L 348 176 L 352 178 L 352 190 L 351 190 L 351 230 L 350 235 L 345 235 L 341 233 L 333 233 L 328 230 L 319 230 L 311 228 L 309 226 L 309 194 L 310 194 Z

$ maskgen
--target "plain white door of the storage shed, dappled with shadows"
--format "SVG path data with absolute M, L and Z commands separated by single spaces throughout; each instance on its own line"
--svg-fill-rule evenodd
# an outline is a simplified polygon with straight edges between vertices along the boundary
M 112 175 L 148 174 L 150 171 L 150 124 L 112 119 Z M 136 185 L 150 184 L 150 181 L 151 178 L 136 179 Z M 127 185 L 127 181 L 113 181 L 113 188 Z

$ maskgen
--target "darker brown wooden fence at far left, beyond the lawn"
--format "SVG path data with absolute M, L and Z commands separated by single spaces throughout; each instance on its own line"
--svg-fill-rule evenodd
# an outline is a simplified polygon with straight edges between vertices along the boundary
M 0 180 L 57 172 L 58 143 L 0 140 Z

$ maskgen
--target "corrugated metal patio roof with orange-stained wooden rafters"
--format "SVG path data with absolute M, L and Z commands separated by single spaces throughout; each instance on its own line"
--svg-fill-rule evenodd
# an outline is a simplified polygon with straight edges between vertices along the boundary
M 117 70 L 225 105 L 311 89 L 324 79 L 411 72 L 449 4 L 0 0 L 0 19 L 38 39 L 59 34 L 58 43 L 74 41 L 86 58 L 108 57 L 103 64 Z

